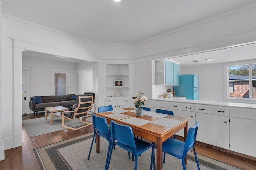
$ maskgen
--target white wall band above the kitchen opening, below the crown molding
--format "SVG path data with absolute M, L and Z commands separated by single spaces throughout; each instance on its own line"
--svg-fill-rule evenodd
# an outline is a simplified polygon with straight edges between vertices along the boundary
M 135 45 L 134 58 L 161 59 L 255 41 L 256 7 L 229 11 Z

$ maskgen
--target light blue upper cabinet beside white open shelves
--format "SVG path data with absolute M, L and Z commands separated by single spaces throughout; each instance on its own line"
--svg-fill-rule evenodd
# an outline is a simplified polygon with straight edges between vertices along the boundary
M 179 85 L 180 84 L 180 65 L 164 60 L 164 85 Z

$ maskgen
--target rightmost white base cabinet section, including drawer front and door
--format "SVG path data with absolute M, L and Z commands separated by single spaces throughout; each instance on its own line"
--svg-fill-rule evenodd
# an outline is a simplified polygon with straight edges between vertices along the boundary
M 230 150 L 256 157 L 256 109 L 230 109 Z

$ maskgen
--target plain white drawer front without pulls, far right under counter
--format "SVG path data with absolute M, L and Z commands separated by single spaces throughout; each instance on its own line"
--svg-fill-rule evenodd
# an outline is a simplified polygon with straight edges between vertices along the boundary
M 256 109 L 230 108 L 230 117 L 256 120 Z

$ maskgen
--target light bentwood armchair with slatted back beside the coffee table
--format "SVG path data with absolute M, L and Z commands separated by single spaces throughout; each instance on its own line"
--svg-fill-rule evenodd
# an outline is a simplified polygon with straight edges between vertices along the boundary
M 72 107 L 72 111 L 64 111 L 62 112 L 62 127 L 68 128 L 71 130 L 78 130 L 80 128 L 84 128 L 87 126 L 92 125 L 90 122 L 80 120 L 80 117 L 91 117 L 92 115 L 88 115 L 90 109 L 92 109 L 92 105 L 94 104 L 94 97 L 93 95 L 77 95 L 76 96 L 76 104 Z M 78 128 L 67 127 L 65 125 L 65 119 L 78 119 L 80 123 L 84 123 L 84 126 L 80 126 Z

